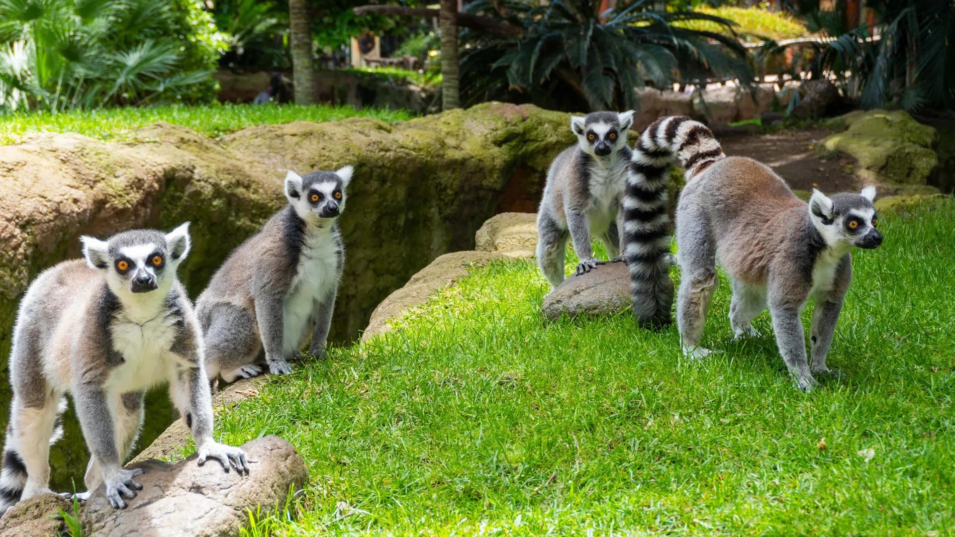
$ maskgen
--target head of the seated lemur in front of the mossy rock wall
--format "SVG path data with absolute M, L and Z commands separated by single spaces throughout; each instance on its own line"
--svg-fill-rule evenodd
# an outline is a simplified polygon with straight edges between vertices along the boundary
M 288 170 L 285 187 L 288 203 L 307 222 L 332 222 L 345 211 L 345 189 L 353 173 L 351 166 L 334 172 L 312 172 L 305 177 Z

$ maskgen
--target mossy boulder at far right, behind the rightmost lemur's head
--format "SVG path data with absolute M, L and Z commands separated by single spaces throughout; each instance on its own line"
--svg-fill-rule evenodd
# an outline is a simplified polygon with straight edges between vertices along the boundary
M 857 173 L 863 180 L 925 184 L 938 166 L 938 156 L 932 150 L 935 129 L 901 110 L 857 112 L 840 120 L 848 129 L 822 140 L 821 146 L 859 161 Z

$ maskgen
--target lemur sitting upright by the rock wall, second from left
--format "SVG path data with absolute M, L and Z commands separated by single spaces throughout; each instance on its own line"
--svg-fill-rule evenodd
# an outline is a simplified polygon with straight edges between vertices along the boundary
M 325 354 L 335 294 L 345 267 L 337 219 L 345 210 L 351 166 L 299 177 L 289 171 L 288 204 L 237 247 L 196 303 L 206 373 L 216 382 L 291 373 L 313 326 L 310 354 Z

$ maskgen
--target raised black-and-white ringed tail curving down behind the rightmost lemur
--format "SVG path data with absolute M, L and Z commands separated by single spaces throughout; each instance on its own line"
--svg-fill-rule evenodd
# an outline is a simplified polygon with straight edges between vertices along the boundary
M 626 177 L 623 232 L 630 269 L 633 313 L 641 326 L 670 322 L 673 281 L 669 278 L 669 166 L 683 166 L 687 181 L 725 158 L 712 131 L 683 116 L 653 121 L 637 140 Z

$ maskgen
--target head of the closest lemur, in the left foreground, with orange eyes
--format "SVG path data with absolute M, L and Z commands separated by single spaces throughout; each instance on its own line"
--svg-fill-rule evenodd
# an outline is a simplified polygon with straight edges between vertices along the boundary
M 110 290 L 122 295 L 168 290 L 191 246 L 188 222 L 166 234 L 133 229 L 106 241 L 89 236 L 80 241 L 87 265 L 102 271 Z

